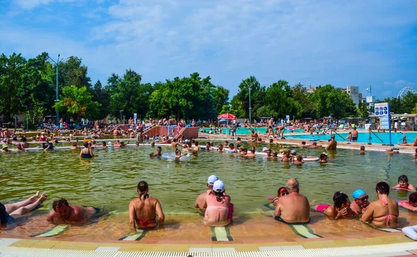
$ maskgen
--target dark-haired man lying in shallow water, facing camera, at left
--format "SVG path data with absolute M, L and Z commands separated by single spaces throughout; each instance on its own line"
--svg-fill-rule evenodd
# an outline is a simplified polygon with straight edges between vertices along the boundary
M 52 203 L 47 221 L 55 224 L 83 224 L 97 212 L 99 212 L 97 208 L 70 205 L 67 200 L 60 198 Z

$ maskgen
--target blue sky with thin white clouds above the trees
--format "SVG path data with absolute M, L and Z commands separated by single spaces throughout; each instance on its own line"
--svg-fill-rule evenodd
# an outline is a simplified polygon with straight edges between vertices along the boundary
M 93 83 L 132 68 L 152 82 L 199 72 L 308 86 L 417 89 L 417 1 L 0 0 L 0 52 L 79 56 Z M 56 57 L 55 57 L 56 58 Z

